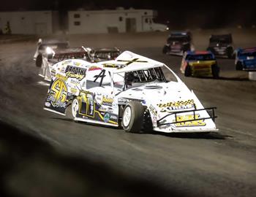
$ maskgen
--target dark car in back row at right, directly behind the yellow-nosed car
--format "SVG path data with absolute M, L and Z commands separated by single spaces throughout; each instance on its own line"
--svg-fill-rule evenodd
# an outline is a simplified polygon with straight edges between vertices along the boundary
M 187 50 L 195 50 L 192 44 L 192 34 L 186 32 L 172 32 L 162 49 L 162 53 L 168 55 L 183 55 Z

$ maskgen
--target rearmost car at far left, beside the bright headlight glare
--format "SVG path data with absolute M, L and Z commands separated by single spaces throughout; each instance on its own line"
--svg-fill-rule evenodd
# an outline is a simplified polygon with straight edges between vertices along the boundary
M 42 56 L 51 53 L 51 49 L 65 49 L 69 47 L 69 42 L 64 39 L 39 39 L 37 42 L 37 50 L 34 53 L 34 61 L 36 66 L 42 66 Z

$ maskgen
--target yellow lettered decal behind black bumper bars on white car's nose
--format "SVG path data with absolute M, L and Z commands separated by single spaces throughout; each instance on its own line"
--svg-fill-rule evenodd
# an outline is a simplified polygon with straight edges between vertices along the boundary
M 191 120 L 191 121 L 187 121 L 187 122 L 183 122 L 183 123 L 175 123 L 175 125 L 176 125 L 176 127 L 204 126 L 204 125 L 206 125 L 204 120 L 196 120 L 199 117 L 200 117 L 200 115 L 195 115 L 195 119 L 194 119 L 194 115 L 177 115 L 177 122 L 187 121 L 187 120 Z

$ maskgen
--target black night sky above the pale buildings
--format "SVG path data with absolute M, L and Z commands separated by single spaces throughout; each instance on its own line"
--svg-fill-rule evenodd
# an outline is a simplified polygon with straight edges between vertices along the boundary
M 215 28 L 225 26 L 256 25 L 256 1 L 205 0 L 205 1 L 156 1 L 156 0 L 21 0 L 1 2 L 0 11 L 17 10 L 67 10 L 83 9 L 155 9 L 156 22 L 176 27 Z

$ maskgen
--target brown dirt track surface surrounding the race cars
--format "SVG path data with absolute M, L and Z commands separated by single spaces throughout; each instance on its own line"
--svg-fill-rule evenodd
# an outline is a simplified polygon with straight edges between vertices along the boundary
M 211 32 L 195 31 L 197 50 Z M 173 69 L 204 107 L 217 107 L 219 133 L 127 134 L 75 123 L 42 109 L 48 87 L 32 60 L 36 40 L 0 45 L 0 119 L 50 142 L 56 148 L 139 179 L 157 182 L 184 196 L 254 196 L 256 193 L 256 81 L 236 72 L 234 61 L 218 59 L 220 79 L 185 78 L 181 57 L 162 54 L 167 34 L 68 36 L 72 46 L 119 47 Z M 236 47 L 256 46 L 255 31 L 233 34 Z M 27 129 L 29 128 L 29 129 Z

